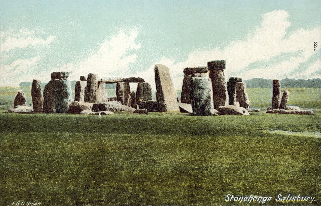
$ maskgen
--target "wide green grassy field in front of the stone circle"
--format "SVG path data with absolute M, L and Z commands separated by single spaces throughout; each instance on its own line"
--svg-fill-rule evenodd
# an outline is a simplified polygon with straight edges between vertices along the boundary
M 0 113 L 1 203 L 247 205 L 225 202 L 231 193 L 309 204 L 274 201 L 291 193 L 319 205 L 321 138 L 302 132 L 320 133 L 320 117 Z

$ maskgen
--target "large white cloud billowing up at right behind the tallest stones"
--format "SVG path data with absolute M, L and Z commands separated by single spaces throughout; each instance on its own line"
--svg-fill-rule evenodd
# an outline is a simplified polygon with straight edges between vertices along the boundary
M 291 26 L 289 13 L 283 10 L 275 10 L 263 15 L 260 25 L 250 31 L 246 39 L 237 39 L 224 49 L 213 47 L 210 50 L 198 49 L 191 52 L 185 62 L 174 63 L 174 59 L 163 57 L 155 64 L 164 64 L 169 67 L 174 80 L 175 87 L 179 89 L 183 79 L 183 68 L 189 66 L 206 66 L 207 62 L 216 59 L 226 60 L 225 75 L 238 76 L 243 79 L 255 77 L 261 78 L 285 78 L 293 75 L 300 64 L 305 63 L 315 55 L 314 48 L 311 46 L 314 41 L 320 42 L 321 29 L 299 28 L 288 34 Z M 311 43 L 312 42 L 312 43 Z M 273 58 L 288 55 L 290 58 L 273 64 Z M 259 63 L 259 67 L 249 67 L 253 63 Z M 269 63 L 269 64 L 267 64 Z M 297 71 L 299 73 L 309 73 Z M 153 74 L 153 66 L 141 74 Z M 307 74 L 307 78 L 309 76 Z M 148 81 L 154 80 L 149 75 Z

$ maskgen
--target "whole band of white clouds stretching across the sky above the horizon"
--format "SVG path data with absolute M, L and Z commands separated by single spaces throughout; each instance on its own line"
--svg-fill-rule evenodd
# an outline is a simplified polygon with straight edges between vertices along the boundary
M 297 28 L 288 32 L 291 22 L 290 14 L 283 10 L 275 10 L 263 14 L 262 21 L 256 28 L 249 30 L 244 39 L 235 39 L 226 47 L 208 45 L 186 54 L 186 61 L 177 62 L 175 56 L 163 56 L 155 59 L 154 64 L 164 64 L 169 67 L 175 88 L 180 89 L 183 79 L 183 69 L 189 66 L 206 66 L 208 61 L 226 60 L 225 76 L 251 78 L 283 79 L 283 78 L 321 78 L 321 59 L 319 51 L 314 50 L 314 42 L 320 44 L 320 25 L 312 28 Z M 140 28 L 141 29 L 141 28 Z M 1 86 L 18 86 L 20 82 L 41 82 L 50 80 L 53 71 L 69 71 L 71 80 L 79 76 L 97 73 L 105 76 L 139 76 L 151 83 L 155 88 L 154 64 L 145 66 L 140 71 L 131 68 L 139 64 L 137 51 L 142 47 L 143 39 L 135 28 L 120 30 L 106 39 L 99 49 L 92 51 L 81 61 L 66 62 L 61 67 L 46 68 L 39 71 L 42 56 L 19 58 L 13 56 L 14 50 L 30 47 L 41 48 L 43 52 L 56 41 L 56 36 L 37 36 L 38 32 L 22 28 L 19 33 L 1 31 Z M 319 49 L 319 46 L 318 46 Z M 146 54 L 148 56 L 148 54 Z M 4 61 L 5 60 L 5 61 Z M 10 61 L 11 60 L 11 61 Z M 143 70 L 143 71 L 142 71 Z

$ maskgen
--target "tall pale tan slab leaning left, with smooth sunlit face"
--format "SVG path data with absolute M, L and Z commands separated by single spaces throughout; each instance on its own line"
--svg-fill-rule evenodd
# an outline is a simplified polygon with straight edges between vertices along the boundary
M 170 78 L 169 69 L 162 64 L 155 64 L 156 100 L 160 112 L 178 111 L 177 93 Z

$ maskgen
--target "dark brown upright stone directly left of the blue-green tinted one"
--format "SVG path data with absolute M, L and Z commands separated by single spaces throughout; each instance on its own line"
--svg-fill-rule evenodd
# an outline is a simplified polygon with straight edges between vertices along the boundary
M 43 113 L 52 113 L 55 108 L 55 87 L 59 80 L 52 79 L 43 89 Z

